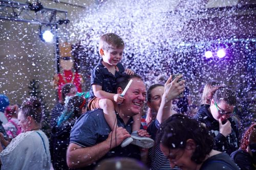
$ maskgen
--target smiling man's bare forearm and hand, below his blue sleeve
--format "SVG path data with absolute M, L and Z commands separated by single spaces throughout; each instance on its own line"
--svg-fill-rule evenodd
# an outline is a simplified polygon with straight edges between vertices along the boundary
M 116 135 L 112 132 L 109 134 L 109 137 L 92 147 L 81 147 L 78 144 L 70 143 L 67 150 L 67 164 L 70 168 L 79 168 L 84 167 L 96 162 L 111 149 L 116 147 L 121 142 L 131 135 L 122 127 L 116 129 Z

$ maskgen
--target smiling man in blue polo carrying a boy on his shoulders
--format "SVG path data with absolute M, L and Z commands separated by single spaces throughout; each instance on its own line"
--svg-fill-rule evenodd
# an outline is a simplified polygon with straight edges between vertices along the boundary
M 145 84 L 137 75 L 125 74 L 117 79 L 116 93 L 121 94 L 130 80 L 133 81 L 124 94 L 123 102 L 120 105 L 114 104 L 118 127 L 112 129 L 109 126 L 102 109 L 88 111 L 78 118 L 71 130 L 67 150 L 67 163 L 70 168 L 93 169 L 99 161 L 111 157 L 140 160 L 139 143 L 123 148 L 120 146 L 125 138 L 131 137 L 133 116 L 139 114 L 146 98 Z M 149 137 L 142 129 L 137 134 Z

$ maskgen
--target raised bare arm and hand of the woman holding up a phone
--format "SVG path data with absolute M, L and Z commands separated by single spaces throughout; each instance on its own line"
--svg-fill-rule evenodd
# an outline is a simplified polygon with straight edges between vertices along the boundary
M 185 89 L 185 80 L 176 83 L 181 77 L 182 75 L 176 77 L 172 81 L 172 76 L 170 76 L 166 83 L 164 84 L 164 93 L 162 96 L 161 105 L 157 112 L 157 120 L 160 124 L 162 124 L 164 120 L 166 120 L 173 114 L 172 100 L 176 98 Z

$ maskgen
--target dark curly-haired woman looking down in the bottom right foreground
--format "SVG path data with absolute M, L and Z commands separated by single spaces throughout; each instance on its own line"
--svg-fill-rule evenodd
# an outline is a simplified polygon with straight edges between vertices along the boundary
M 170 166 L 189 170 L 238 170 L 226 153 L 213 150 L 214 139 L 197 120 L 183 114 L 170 116 L 159 129 L 157 142 Z

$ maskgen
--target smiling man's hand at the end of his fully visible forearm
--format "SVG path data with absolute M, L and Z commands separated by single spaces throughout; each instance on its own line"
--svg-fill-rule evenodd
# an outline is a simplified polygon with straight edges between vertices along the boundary
M 122 141 L 127 137 L 131 137 L 130 133 L 128 133 L 123 127 L 118 127 L 116 130 L 109 134 L 109 137 L 106 140 L 109 141 L 111 145 L 110 149 L 113 149 L 120 145 Z

